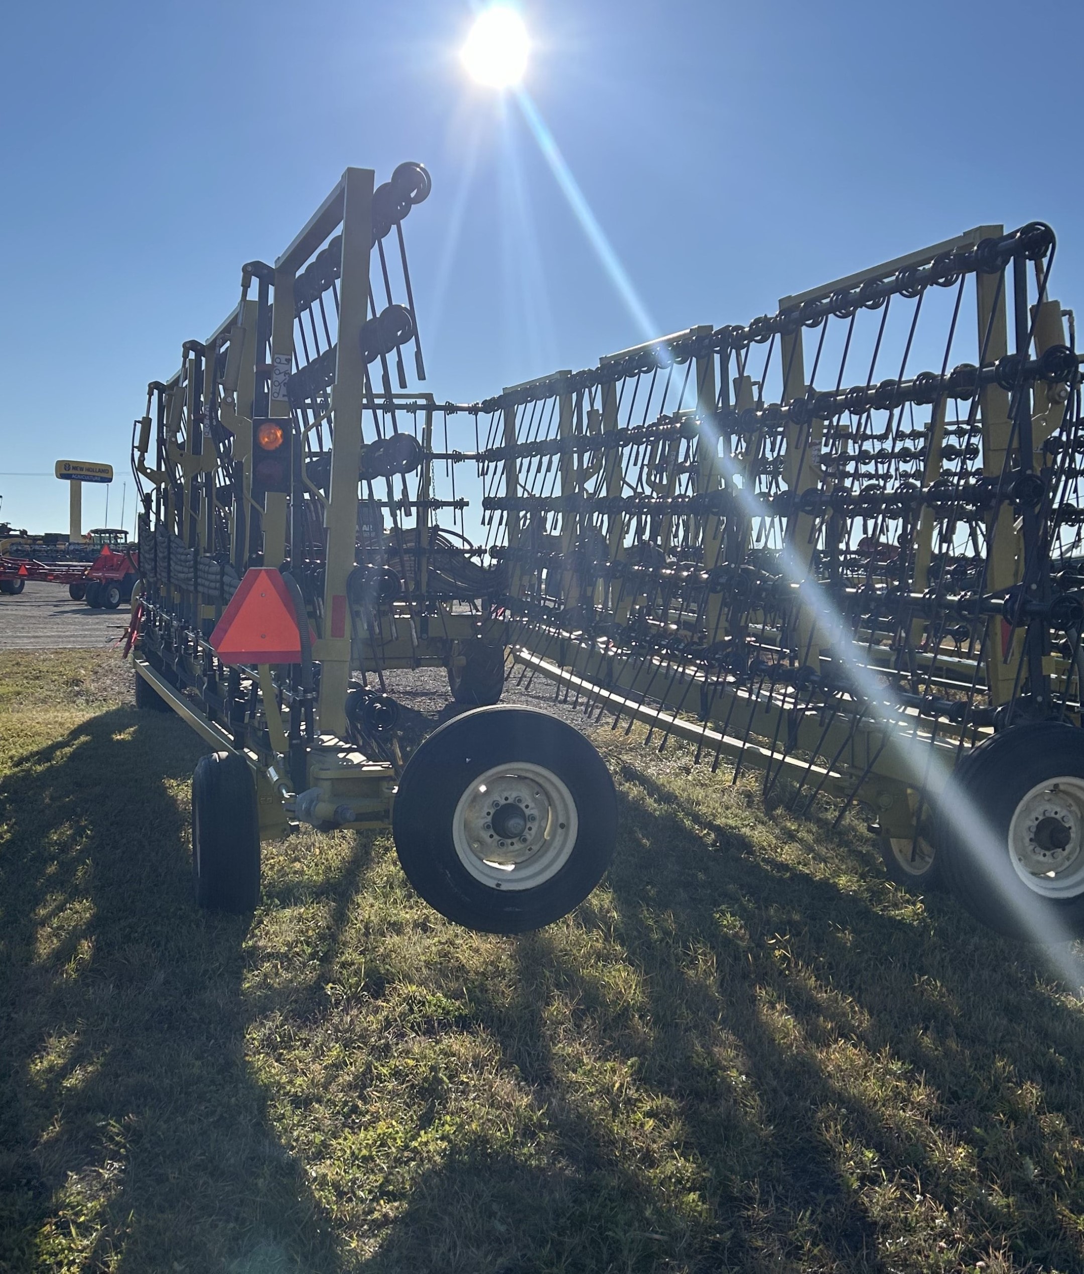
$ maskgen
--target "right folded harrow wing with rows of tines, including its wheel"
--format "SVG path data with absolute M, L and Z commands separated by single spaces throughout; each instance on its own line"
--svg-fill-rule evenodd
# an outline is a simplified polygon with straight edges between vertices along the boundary
M 530 675 L 800 806 L 861 801 L 895 880 L 1043 938 L 1084 933 L 1053 255 L 1043 224 L 982 227 L 479 405 Z

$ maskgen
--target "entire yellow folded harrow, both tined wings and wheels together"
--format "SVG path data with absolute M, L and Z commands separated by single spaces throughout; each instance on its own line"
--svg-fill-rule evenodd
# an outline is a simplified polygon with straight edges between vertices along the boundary
M 452 919 L 574 906 L 613 789 L 571 727 L 493 707 L 510 651 L 706 773 L 860 803 L 906 887 L 1084 933 L 1080 376 L 1050 228 L 980 227 L 455 405 L 417 385 L 403 222 L 427 194 L 419 166 L 374 191 L 348 169 L 136 422 L 140 696 L 220 749 L 200 810 L 255 782 L 246 888 L 201 897 L 251 905 L 259 834 L 391 820 Z M 225 657 L 252 571 L 296 640 Z M 423 739 L 385 680 L 423 666 L 488 710 Z M 233 859 L 195 824 L 203 882 Z

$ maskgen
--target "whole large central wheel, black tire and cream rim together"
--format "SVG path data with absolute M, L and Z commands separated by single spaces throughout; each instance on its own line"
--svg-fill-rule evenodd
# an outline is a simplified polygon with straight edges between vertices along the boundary
M 577 907 L 610 864 L 617 824 L 614 782 L 583 735 L 515 707 L 465 712 L 431 734 L 392 806 L 395 848 L 418 893 L 490 934 L 541 929 Z M 488 859 L 475 848 L 487 841 Z

